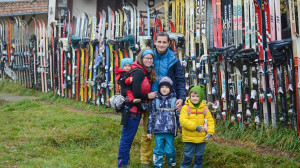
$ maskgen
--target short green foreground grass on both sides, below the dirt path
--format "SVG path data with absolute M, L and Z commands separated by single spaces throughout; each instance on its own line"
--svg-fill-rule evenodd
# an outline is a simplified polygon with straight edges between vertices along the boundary
M 119 121 L 62 107 L 33 100 L 0 107 L 0 167 L 116 167 Z M 141 132 L 133 142 L 130 167 L 140 165 Z M 180 163 L 184 150 L 180 135 L 175 147 Z M 206 145 L 204 166 L 299 167 L 300 163 L 296 158 L 211 141 Z

